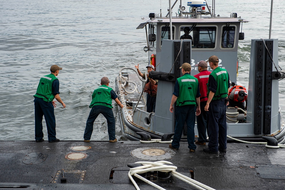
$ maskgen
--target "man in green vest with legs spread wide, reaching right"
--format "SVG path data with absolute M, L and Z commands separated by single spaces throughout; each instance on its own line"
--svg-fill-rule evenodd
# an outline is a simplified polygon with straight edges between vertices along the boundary
M 109 142 L 117 142 L 115 137 L 115 118 L 113 114 L 112 99 L 123 108 L 123 104 L 112 88 L 109 87 L 110 80 L 107 77 L 101 78 L 101 86 L 96 88 L 92 94 L 92 101 L 89 108 L 92 108 L 86 121 L 84 131 L 84 142 L 90 142 L 93 132 L 93 124 L 99 114 L 107 119 Z

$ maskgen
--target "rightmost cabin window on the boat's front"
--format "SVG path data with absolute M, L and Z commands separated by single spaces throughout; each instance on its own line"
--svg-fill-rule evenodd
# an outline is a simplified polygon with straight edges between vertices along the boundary
M 222 48 L 234 48 L 235 44 L 235 26 L 224 26 L 222 32 Z

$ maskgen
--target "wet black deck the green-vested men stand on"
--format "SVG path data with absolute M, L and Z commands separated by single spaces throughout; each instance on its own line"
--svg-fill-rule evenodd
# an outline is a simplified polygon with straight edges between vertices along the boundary
M 78 145 L 91 146 L 91 149 L 71 149 Z M 167 149 L 168 144 L 129 141 L 0 142 L 0 189 L 9 185 L 24 185 L 27 186 L 25 189 L 135 189 L 127 176 L 127 164 L 145 161 L 131 155 L 133 150 L 143 147 Z M 190 170 L 193 170 L 195 180 L 214 189 L 284 189 L 285 149 L 228 143 L 227 153 L 211 154 L 203 152 L 203 147 L 205 146 L 197 145 L 196 152 L 190 153 L 187 143 L 182 142 L 180 149 L 170 159 L 164 160 L 172 162 L 180 171 L 185 169 L 186 175 L 191 176 Z M 66 159 L 69 153 L 78 152 L 85 153 L 87 157 L 76 161 Z M 37 153 L 41 156 L 31 158 L 31 155 Z M 27 157 L 29 154 L 30 157 Z M 29 164 L 29 161 L 34 163 Z M 62 168 L 86 171 L 83 184 L 54 183 L 56 172 Z M 115 171 L 112 179 L 110 173 L 113 168 Z M 138 182 L 141 189 L 155 189 L 144 182 Z M 177 178 L 157 182 L 165 182 L 162 185 L 165 189 L 195 189 Z

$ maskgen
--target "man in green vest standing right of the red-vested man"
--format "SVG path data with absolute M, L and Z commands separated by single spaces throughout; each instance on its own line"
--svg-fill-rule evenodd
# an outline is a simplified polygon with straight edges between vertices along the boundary
M 227 70 L 218 66 L 217 56 L 209 57 L 206 62 L 209 62 L 213 71 L 209 75 L 208 100 L 204 108 L 209 111 L 209 143 L 203 151 L 217 154 L 218 150 L 226 152 L 227 149 L 226 109 L 229 104 L 227 96 L 230 82 Z

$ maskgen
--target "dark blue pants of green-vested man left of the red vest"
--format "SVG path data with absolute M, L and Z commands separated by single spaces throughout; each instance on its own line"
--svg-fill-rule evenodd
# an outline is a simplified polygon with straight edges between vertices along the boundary
M 180 139 L 183 132 L 184 123 L 187 125 L 187 141 L 189 149 L 196 149 L 194 144 L 195 140 L 195 117 L 196 115 L 196 105 L 185 105 L 185 106 L 176 106 L 175 108 L 175 119 L 176 125 L 174 129 L 174 136 L 172 140 L 172 147 L 179 148 Z

